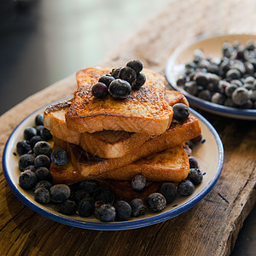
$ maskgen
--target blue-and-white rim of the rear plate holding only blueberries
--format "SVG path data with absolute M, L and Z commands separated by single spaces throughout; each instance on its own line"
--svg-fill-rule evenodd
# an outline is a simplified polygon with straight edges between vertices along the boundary
M 238 35 L 239 34 L 237 34 L 237 36 Z M 244 34 L 244 35 L 247 35 L 247 34 Z M 218 105 L 212 102 L 207 102 L 196 96 L 190 95 L 186 90 L 179 88 L 176 84 L 175 75 L 172 73 L 172 71 L 173 71 L 173 67 L 175 66 L 175 60 L 177 59 L 177 56 L 180 55 L 180 53 L 183 52 L 184 49 L 188 48 L 192 44 L 199 43 L 207 39 L 224 37 L 224 36 L 236 36 L 236 34 L 235 35 L 219 34 L 219 33 L 201 34 L 196 36 L 195 38 L 191 38 L 188 42 L 185 42 L 184 44 L 181 44 L 179 47 L 177 47 L 177 49 L 174 50 L 171 57 L 168 59 L 166 63 L 166 71 L 165 71 L 166 80 L 168 84 L 170 84 L 173 90 L 178 90 L 182 92 L 183 95 L 186 96 L 186 98 L 189 100 L 189 102 L 191 104 L 194 104 L 198 108 L 202 108 L 212 113 L 218 113 L 220 115 L 230 116 L 232 118 L 237 118 L 237 119 L 256 119 L 256 109 L 230 108 L 230 107 Z

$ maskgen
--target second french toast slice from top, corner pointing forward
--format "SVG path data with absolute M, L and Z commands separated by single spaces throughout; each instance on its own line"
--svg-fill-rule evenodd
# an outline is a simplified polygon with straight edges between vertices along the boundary
M 170 106 L 180 102 L 189 106 L 182 93 L 175 90 L 166 90 L 166 101 Z M 73 99 L 67 99 L 50 105 L 44 111 L 44 126 L 54 137 L 67 143 L 80 145 L 90 154 L 101 158 L 118 158 L 139 148 L 151 136 L 145 133 L 128 131 L 96 131 L 94 133 L 71 131 L 67 129 L 65 113 L 67 113 Z

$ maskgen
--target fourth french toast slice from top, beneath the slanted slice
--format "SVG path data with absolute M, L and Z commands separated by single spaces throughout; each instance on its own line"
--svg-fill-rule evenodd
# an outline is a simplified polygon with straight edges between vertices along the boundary
M 93 161 L 100 160 L 91 159 L 89 164 L 92 164 Z M 70 184 L 84 180 L 83 175 L 81 175 L 77 168 L 78 165 L 82 166 L 83 164 L 84 160 L 80 160 L 75 166 L 73 166 L 73 160 L 69 160 L 65 166 L 55 166 L 52 164 L 50 172 L 54 183 Z M 147 181 L 181 182 L 189 174 L 189 157 L 182 146 L 176 146 L 160 153 L 151 154 L 127 166 L 91 176 L 90 179 L 131 181 L 132 177 L 139 174 L 146 177 Z

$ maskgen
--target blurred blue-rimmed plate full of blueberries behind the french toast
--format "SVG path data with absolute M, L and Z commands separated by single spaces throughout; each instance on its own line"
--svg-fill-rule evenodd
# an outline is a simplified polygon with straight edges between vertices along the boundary
M 256 35 L 202 34 L 166 64 L 172 89 L 190 105 L 233 119 L 256 119 Z

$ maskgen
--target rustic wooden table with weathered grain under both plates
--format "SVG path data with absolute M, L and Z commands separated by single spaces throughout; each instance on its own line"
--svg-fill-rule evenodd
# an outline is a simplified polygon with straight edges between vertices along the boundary
M 244 1 L 241 6 L 239 1 L 205 2 L 198 5 L 196 0 L 173 1 L 99 64 L 117 66 L 137 58 L 146 67 L 164 73 L 168 55 L 184 39 L 201 32 L 256 32 L 253 26 L 255 6 L 252 6 L 256 3 Z M 243 19 L 244 15 L 247 19 Z M 0 117 L 1 155 L 9 134 L 21 119 L 56 98 L 72 94 L 75 87 L 72 75 L 4 113 Z M 195 207 L 176 218 L 143 229 L 82 230 L 55 223 L 24 206 L 9 189 L 1 164 L 0 254 L 230 254 L 241 225 L 256 201 L 255 122 L 198 111 L 218 131 L 224 144 L 225 162 L 218 183 Z

